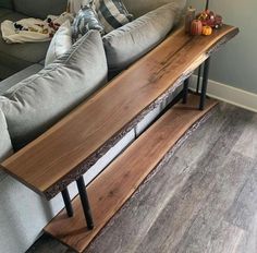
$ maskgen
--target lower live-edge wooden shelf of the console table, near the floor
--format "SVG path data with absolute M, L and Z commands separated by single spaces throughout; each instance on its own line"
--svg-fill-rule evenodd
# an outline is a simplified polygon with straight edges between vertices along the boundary
M 75 216 L 66 218 L 63 210 L 45 231 L 72 249 L 83 252 L 169 149 L 199 118 L 217 105 L 216 100 L 209 99 L 206 109 L 199 111 L 198 103 L 199 97 L 191 95 L 186 105 L 179 104 L 170 109 L 88 186 L 96 225 L 94 230 L 86 229 L 81 201 L 77 197 L 73 201 Z

